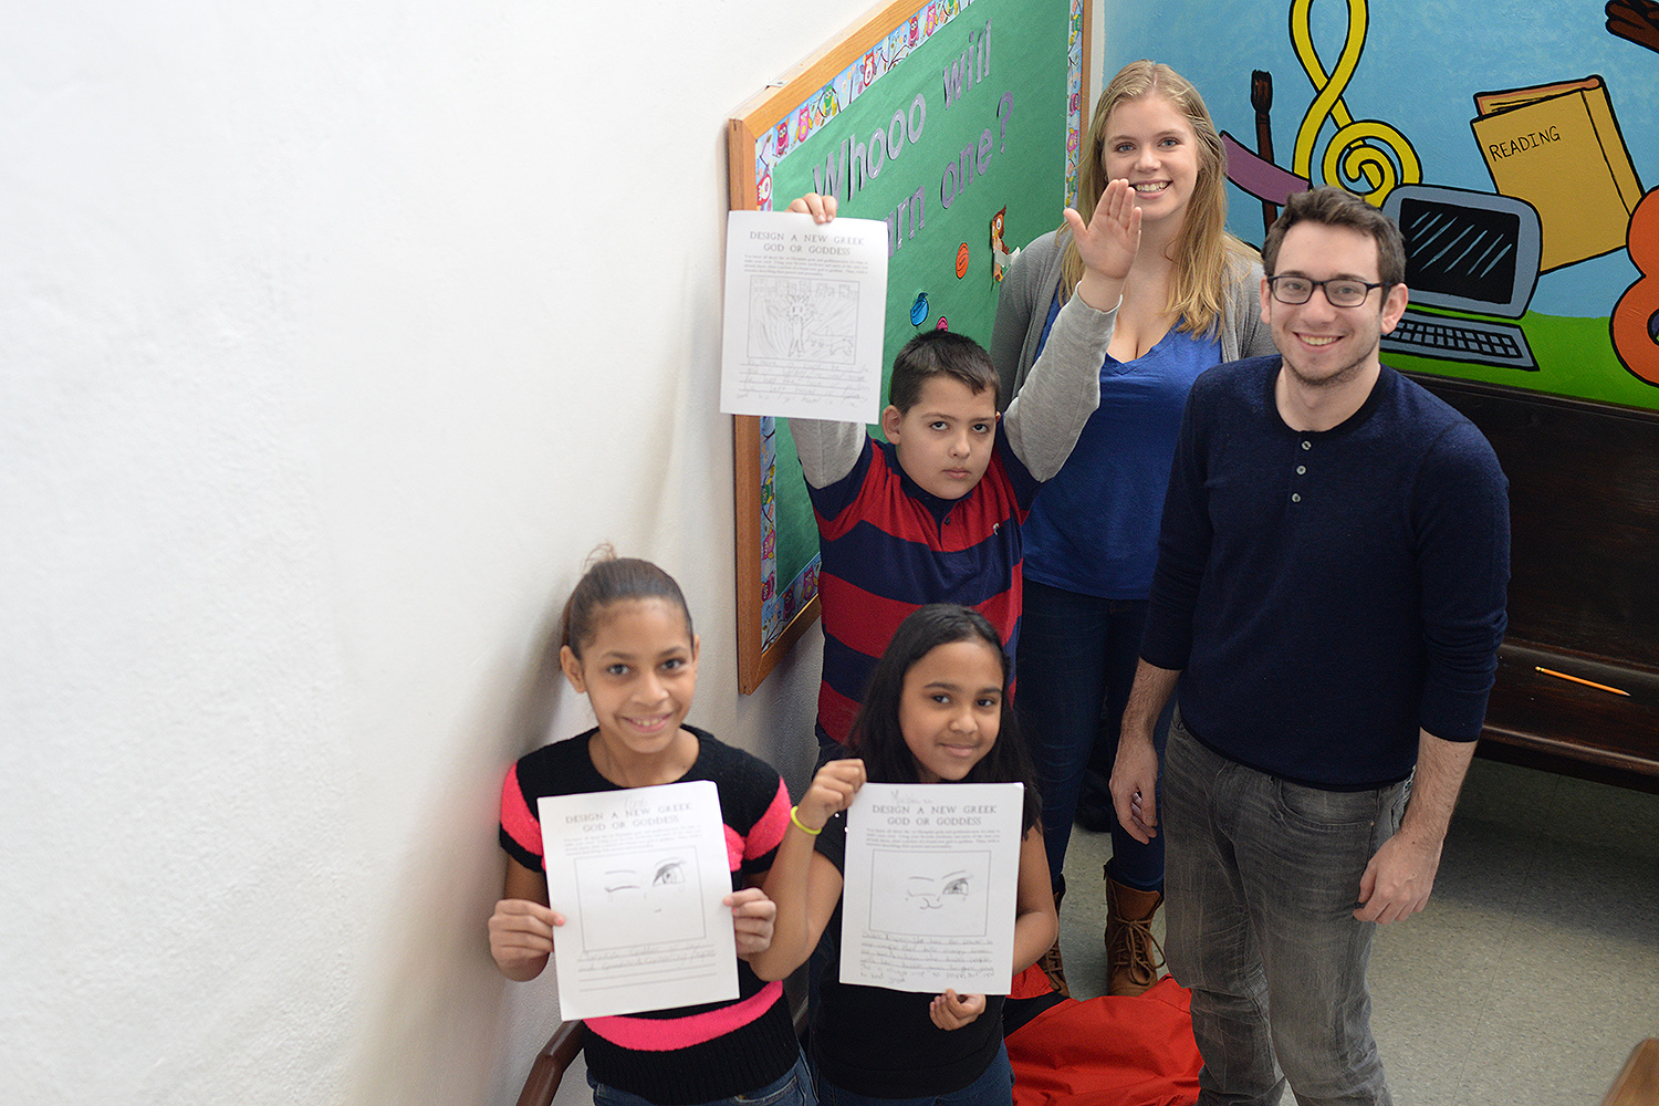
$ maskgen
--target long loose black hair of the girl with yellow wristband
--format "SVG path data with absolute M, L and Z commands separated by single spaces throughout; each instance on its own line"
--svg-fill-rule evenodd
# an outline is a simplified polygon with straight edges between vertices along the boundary
M 876 783 L 921 783 L 916 756 L 904 743 L 899 728 L 899 701 L 904 696 L 904 675 L 911 667 L 939 645 L 952 642 L 984 642 L 1002 662 L 1002 716 L 997 740 L 990 751 L 969 769 L 962 783 L 1022 783 L 1025 784 L 1025 813 L 1020 829 L 1029 831 L 1042 816 L 1037 794 L 1037 773 L 1030 751 L 1020 736 L 1014 718 L 1014 700 L 1009 695 L 1012 663 L 1002 648 L 1002 638 L 985 615 L 956 604 L 929 604 L 899 623 L 893 640 L 876 662 L 869 677 L 869 690 L 858 708 L 858 720 L 848 735 L 848 748 L 864 758 L 864 773 Z

